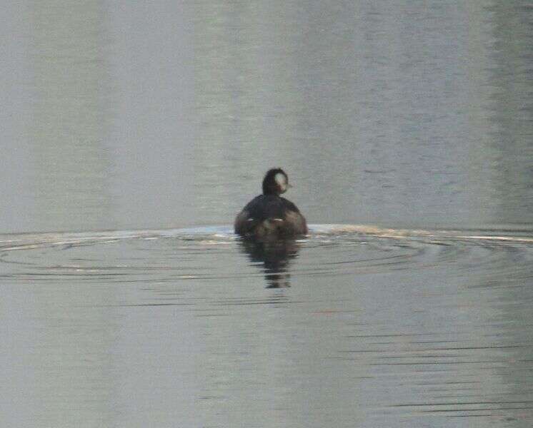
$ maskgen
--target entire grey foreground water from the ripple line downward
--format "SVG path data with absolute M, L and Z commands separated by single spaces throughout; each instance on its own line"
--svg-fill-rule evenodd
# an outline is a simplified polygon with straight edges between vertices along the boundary
M 4 235 L 24 356 L 4 370 L 54 426 L 527 426 L 532 245 L 362 225 Z

